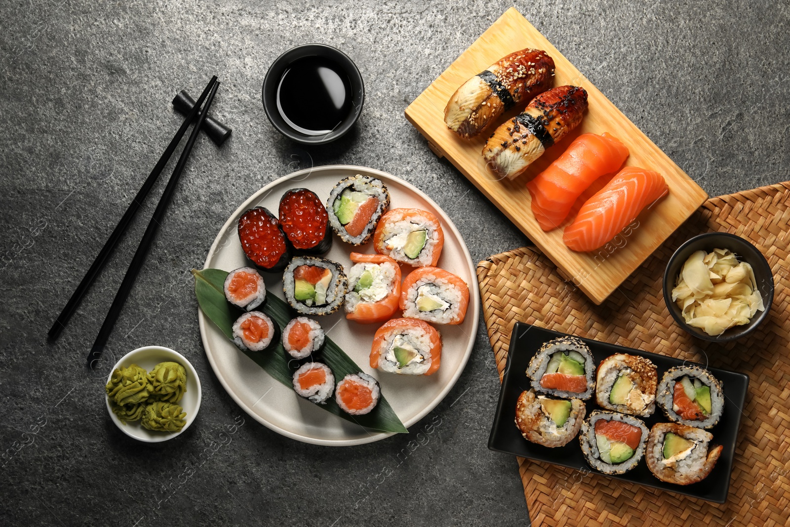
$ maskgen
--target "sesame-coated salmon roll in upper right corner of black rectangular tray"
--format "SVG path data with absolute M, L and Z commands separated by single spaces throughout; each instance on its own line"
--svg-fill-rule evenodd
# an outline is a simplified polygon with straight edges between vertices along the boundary
M 656 401 L 669 420 L 689 427 L 712 428 L 724 411 L 720 382 L 698 366 L 669 368 L 661 378 Z

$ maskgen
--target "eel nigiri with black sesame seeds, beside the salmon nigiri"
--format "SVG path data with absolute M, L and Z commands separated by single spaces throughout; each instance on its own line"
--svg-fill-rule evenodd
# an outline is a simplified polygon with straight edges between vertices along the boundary
M 483 147 L 483 158 L 498 175 L 513 179 L 581 122 L 587 92 L 558 86 L 530 101 L 525 111 L 499 126 Z

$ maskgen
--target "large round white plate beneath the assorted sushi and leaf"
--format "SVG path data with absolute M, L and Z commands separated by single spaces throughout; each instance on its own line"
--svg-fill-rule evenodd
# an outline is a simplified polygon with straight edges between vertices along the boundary
M 438 267 L 457 274 L 469 286 L 470 302 L 464 323 L 460 326 L 438 326 L 443 341 L 442 366 L 430 377 L 393 375 L 371 368 L 368 356 L 378 325 L 363 325 L 348 321 L 342 308 L 336 314 L 317 318 L 329 338 L 337 342 L 363 371 L 378 378 L 382 386 L 382 394 L 392 405 L 401 422 L 406 427 L 410 427 L 431 412 L 458 380 L 472 354 L 480 313 L 475 265 L 472 264 L 472 258 L 457 228 L 431 198 L 403 179 L 371 168 L 329 165 L 294 172 L 258 190 L 244 201 L 239 209 L 236 209 L 225 222 L 220 234 L 216 236 L 204 267 L 230 271 L 250 265 L 236 232 L 239 216 L 246 209 L 260 205 L 276 215 L 280 197 L 286 190 L 296 187 L 312 190 L 325 203 L 329 198 L 329 191 L 340 179 L 355 174 L 371 175 L 381 179 L 389 189 L 391 209 L 413 207 L 425 209 L 438 216 L 445 234 L 444 249 Z M 332 249 L 324 257 L 340 262 L 348 269 L 351 265 L 348 254 L 352 250 L 363 253 L 374 252 L 372 243 L 363 247 L 352 247 L 334 235 Z M 408 266 L 402 268 L 404 277 L 410 269 L 412 268 Z M 261 274 L 264 275 L 267 294 L 275 294 L 283 298 L 281 273 Z M 288 386 L 269 377 L 269 374 L 258 364 L 239 352 L 199 308 L 198 322 L 205 354 L 222 386 L 245 412 L 266 427 L 292 439 L 330 446 L 359 445 L 393 435 L 367 430 L 317 408 L 313 403 L 297 396 Z

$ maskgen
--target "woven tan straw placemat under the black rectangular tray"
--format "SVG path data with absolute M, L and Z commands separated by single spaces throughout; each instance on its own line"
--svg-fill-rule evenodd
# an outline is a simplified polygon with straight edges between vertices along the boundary
M 705 202 L 602 305 L 590 302 L 539 250 L 480 262 L 483 316 L 499 378 L 510 330 L 527 322 L 749 375 L 727 503 L 718 505 L 590 472 L 518 459 L 532 525 L 788 525 L 790 517 L 790 183 Z M 751 337 L 715 344 L 680 329 L 664 304 L 661 279 L 674 250 L 702 232 L 754 243 L 773 269 L 769 318 Z M 726 390 L 726 387 L 725 387 Z

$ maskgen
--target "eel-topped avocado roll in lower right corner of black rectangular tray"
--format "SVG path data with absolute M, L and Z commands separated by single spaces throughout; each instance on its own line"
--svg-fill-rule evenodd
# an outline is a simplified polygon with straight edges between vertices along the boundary
M 647 442 L 647 467 L 661 481 L 690 485 L 713 470 L 724 446 L 713 446 L 713 434 L 677 423 L 657 423 Z

